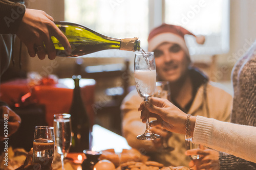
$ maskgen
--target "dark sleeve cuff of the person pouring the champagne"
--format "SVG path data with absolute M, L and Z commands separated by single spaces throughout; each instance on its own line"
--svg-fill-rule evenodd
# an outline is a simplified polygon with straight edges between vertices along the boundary
M 0 0 L 0 34 L 15 34 L 25 11 L 20 3 Z

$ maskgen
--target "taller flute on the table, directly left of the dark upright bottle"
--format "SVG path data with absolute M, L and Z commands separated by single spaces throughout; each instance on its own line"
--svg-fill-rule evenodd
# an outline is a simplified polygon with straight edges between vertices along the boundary
M 55 144 L 57 152 L 60 154 L 62 170 L 64 169 L 64 159 L 71 147 L 71 121 L 70 114 L 54 114 L 53 125 L 55 132 Z

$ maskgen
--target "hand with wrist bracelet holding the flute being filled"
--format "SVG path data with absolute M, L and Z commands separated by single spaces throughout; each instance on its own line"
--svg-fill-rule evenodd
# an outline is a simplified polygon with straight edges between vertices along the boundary
M 141 110 L 142 122 L 148 117 L 155 117 L 157 120 L 150 122 L 150 126 L 162 126 L 164 129 L 185 134 L 185 122 L 187 114 L 182 112 L 167 99 L 151 98 L 150 103 L 141 103 L 138 110 Z M 190 136 L 193 135 L 196 117 L 190 117 Z

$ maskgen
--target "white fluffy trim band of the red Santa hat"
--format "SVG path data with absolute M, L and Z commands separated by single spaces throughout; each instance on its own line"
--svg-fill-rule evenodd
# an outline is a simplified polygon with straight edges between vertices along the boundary
M 185 53 L 189 56 L 188 48 L 185 43 L 185 40 L 181 36 L 178 36 L 177 34 L 172 34 L 172 33 L 162 33 L 153 37 L 148 42 L 148 51 L 153 52 L 156 49 L 156 47 L 163 42 L 172 42 L 172 43 L 179 44 L 182 47 L 182 49 L 185 51 Z

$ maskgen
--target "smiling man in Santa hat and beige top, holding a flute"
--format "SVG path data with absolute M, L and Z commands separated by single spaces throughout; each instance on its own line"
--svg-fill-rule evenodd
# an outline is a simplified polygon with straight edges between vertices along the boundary
M 182 27 L 166 24 L 151 31 L 148 36 L 148 51 L 155 53 L 157 80 L 169 82 L 171 102 L 183 112 L 229 121 L 232 96 L 216 87 L 216 83 L 215 86 L 212 85 L 206 75 L 191 67 L 190 55 L 184 39 L 186 34 L 195 36 Z M 200 44 L 204 42 L 202 36 L 196 37 L 196 40 Z M 137 111 L 141 101 L 137 91 L 134 90 L 125 97 L 121 105 L 122 132 L 127 142 L 154 161 L 168 166 L 188 166 L 190 159 L 184 155 L 186 151 L 184 135 L 167 135 L 167 132 L 161 128 L 152 128 L 153 133 L 161 137 L 170 136 L 168 145 L 174 148 L 170 152 L 161 151 L 161 139 L 153 141 L 136 139 L 137 135 L 145 131 L 145 124 L 141 122 L 140 112 Z

